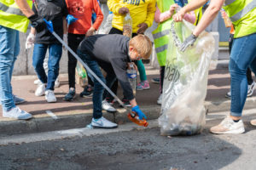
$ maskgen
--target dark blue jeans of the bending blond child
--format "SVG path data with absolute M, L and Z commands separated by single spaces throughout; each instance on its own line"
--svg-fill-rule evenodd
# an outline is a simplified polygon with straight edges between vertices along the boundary
M 106 85 L 108 86 L 108 88 L 111 87 L 113 82 L 116 80 L 115 76 L 114 77 L 107 76 L 105 80 L 96 59 L 93 59 L 92 57 L 90 57 L 90 54 L 82 53 L 79 50 L 78 50 L 78 55 L 79 55 L 79 58 L 82 59 L 84 63 L 90 67 L 90 70 L 93 71 L 96 74 L 96 76 L 102 80 L 102 82 L 106 83 L 106 80 L 107 80 Z M 104 66 L 102 68 L 108 73 L 108 70 L 106 70 Z M 108 65 L 108 68 L 112 68 L 112 66 Z M 93 90 L 93 96 L 92 96 L 93 118 L 98 119 L 102 117 L 102 94 L 104 92 L 104 88 L 102 84 L 98 82 L 96 78 L 90 74 L 89 71 L 87 72 L 87 74 L 90 77 L 90 79 L 94 82 L 94 90 Z

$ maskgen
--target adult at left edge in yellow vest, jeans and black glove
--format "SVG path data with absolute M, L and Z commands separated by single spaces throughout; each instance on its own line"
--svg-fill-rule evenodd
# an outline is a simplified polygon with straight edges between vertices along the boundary
M 30 119 L 32 115 L 15 105 L 11 77 L 15 59 L 20 52 L 19 31 L 26 32 L 29 20 L 38 31 L 46 26 L 44 20 L 32 12 L 30 0 L 0 0 L 0 98 L 3 117 Z M 28 19 L 27 19 L 28 17 Z

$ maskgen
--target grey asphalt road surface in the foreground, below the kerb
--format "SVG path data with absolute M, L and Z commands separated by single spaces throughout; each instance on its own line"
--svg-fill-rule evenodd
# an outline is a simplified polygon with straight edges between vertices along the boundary
M 3 144 L 2 138 L 0 169 L 253 170 L 256 128 L 247 120 L 247 132 L 236 135 L 209 133 L 209 127 L 220 121 L 214 119 L 207 122 L 201 134 L 187 137 L 160 136 L 159 127 L 123 131 L 120 126 L 112 133 L 69 134 L 61 138 L 49 138 L 45 133 L 23 135 L 23 143 L 13 140 Z

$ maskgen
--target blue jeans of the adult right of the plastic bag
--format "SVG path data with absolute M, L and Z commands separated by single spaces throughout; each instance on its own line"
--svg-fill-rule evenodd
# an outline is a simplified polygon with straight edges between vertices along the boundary
M 247 68 L 256 73 L 256 33 L 234 39 L 230 54 L 231 116 L 241 116 L 247 99 Z

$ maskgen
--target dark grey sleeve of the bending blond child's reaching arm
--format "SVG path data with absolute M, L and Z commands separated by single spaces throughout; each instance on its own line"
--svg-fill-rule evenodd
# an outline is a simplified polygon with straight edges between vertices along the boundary
M 125 98 L 127 98 L 129 100 L 134 99 L 131 84 L 126 75 L 127 63 L 123 59 L 120 59 L 120 58 L 111 59 L 110 62 L 113 67 L 113 71 L 114 71 L 117 79 L 119 80 L 121 87 L 123 88 Z

